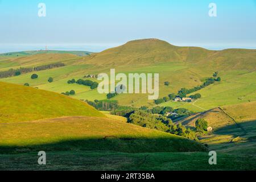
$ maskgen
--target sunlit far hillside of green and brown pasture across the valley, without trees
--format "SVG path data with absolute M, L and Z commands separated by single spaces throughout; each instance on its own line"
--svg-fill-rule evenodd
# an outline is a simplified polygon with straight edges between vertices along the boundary
M 103 100 L 105 94 L 90 90 L 86 86 L 68 85 L 72 78 L 82 78 L 84 75 L 109 73 L 115 68 L 117 73 L 159 73 L 159 95 L 167 96 L 177 93 L 181 88 L 193 88 L 202 84 L 203 80 L 218 71 L 222 78 L 220 83 L 208 86 L 197 93 L 203 98 L 196 104 L 166 102 L 163 106 L 185 107 L 192 111 L 204 111 L 218 106 L 246 103 L 256 100 L 256 50 L 226 49 L 210 51 L 199 47 L 177 47 L 158 39 L 143 39 L 128 42 L 122 46 L 110 48 L 90 56 L 67 54 L 40 54 L 0 60 L 0 69 L 18 68 L 52 62 L 63 62 L 67 66 L 38 72 L 39 78 L 31 81 L 31 74 L 3 78 L 1 81 L 14 84 L 28 82 L 40 89 L 61 93 L 75 90 L 77 99 Z M 53 77 L 49 84 L 47 77 Z M 97 81 L 96 79 L 92 79 Z M 165 86 L 164 82 L 170 82 Z M 193 93 L 194 94 L 194 93 Z M 120 94 L 113 98 L 121 105 L 154 106 L 154 101 L 148 101 L 147 94 Z M 202 109 L 203 108 L 203 109 Z

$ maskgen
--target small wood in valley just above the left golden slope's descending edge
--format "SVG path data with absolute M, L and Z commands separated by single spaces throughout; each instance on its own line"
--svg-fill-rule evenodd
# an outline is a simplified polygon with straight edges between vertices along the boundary
M 97 110 L 102 110 L 102 111 L 113 111 L 118 108 L 118 101 L 110 101 L 110 100 L 95 100 L 93 101 L 88 101 L 86 100 L 89 105 L 95 107 Z

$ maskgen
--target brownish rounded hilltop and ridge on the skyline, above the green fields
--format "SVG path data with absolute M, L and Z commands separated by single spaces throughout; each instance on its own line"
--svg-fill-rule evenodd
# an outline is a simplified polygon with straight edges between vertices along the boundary
M 255 49 L 210 51 L 200 47 L 177 47 L 159 39 L 133 40 L 88 57 L 88 63 L 104 65 L 156 64 L 184 62 L 203 64 L 212 69 L 250 69 L 256 67 Z

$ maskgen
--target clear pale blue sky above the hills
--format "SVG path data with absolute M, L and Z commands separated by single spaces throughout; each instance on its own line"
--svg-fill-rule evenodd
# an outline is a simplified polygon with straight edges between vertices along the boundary
M 38 16 L 39 3 L 46 16 Z M 217 16 L 209 16 L 210 3 Z M 256 49 L 256 0 L 0 0 L 0 52 L 98 52 L 144 38 Z

